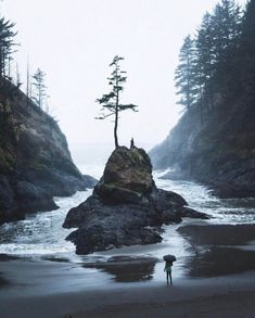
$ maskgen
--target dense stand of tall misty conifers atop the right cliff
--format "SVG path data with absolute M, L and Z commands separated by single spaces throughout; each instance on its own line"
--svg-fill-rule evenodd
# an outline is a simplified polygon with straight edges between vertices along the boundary
M 245 59 L 250 65 L 246 67 L 251 68 L 247 80 L 254 78 L 254 7 L 255 0 L 248 1 L 242 14 L 234 0 L 221 0 L 212 13 L 206 12 L 194 38 L 184 39 L 175 78 L 184 111 L 202 106 L 204 112 L 209 112 L 217 106 L 219 98 L 227 99 L 238 87 L 241 89 Z M 247 52 L 251 52 L 248 58 Z

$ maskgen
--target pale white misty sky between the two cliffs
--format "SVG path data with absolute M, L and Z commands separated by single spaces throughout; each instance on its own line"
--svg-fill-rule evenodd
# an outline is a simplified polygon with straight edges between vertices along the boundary
M 183 38 L 195 33 L 216 0 L 4 0 L 16 23 L 20 69 L 47 73 L 50 106 L 71 149 L 113 142 L 113 123 L 95 120 L 95 99 L 107 92 L 109 64 L 118 54 L 127 71 L 124 102 L 139 113 L 120 117 L 119 143 L 155 144 L 176 124 L 174 73 Z M 239 1 L 244 3 L 244 1 Z

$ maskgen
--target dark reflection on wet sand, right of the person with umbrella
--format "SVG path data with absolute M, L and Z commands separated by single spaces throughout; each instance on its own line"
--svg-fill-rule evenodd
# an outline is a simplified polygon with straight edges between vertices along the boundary
M 193 256 L 183 265 L 191 277 L 216 277 L 255 270 L 255 226 L 187 226 L 178 229 Z M 243 246 L 246 244 L 245 246 Z

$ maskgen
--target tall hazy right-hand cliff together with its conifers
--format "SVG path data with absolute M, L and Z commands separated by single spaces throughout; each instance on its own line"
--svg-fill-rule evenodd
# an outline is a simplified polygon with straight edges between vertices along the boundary
M 176 72 L 184 114 L 151 151 L 171 177 L 212 185 L 221 196 L 255 195 L 255 1 L 222 0 L 186 38 Z M 168 175 L 170 177 L 170 175 Z

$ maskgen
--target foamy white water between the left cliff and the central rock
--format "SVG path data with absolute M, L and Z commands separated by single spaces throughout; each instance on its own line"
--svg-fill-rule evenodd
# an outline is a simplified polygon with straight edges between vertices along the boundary
M 77 192 L 69 198 L 54 198 L 56 211 L 37 213 L 25 220 L 0 227 L 0 253 L 17 255 L 44 255 L 75 253 L 75 246 L 65 238 L 72 230 L 62 227 L 67 212 L 85 201 L 91 190 Z

